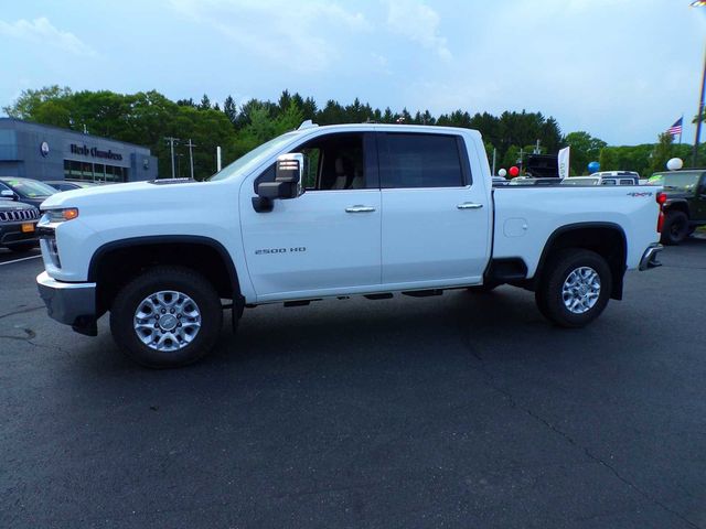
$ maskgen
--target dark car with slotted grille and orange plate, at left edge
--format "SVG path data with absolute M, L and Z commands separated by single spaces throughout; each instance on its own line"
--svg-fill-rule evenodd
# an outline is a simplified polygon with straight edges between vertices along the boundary
M 38 246 L 36 223 L 40 210 L 15 199 L 9 190 L 0 191 L 0 247 L 28 251 Z

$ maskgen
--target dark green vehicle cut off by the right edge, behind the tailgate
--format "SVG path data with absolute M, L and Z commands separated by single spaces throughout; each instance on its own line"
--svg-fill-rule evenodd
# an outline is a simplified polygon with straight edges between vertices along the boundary
M 663 186 L 666 194 L 663 244 L 678 245 L 706 225 L 706 169 L 654 173 L 648 184 Z

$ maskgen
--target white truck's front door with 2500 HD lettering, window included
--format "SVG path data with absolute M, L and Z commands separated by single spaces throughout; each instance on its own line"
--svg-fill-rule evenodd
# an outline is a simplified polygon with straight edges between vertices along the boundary
M 248 272 L 258 301 L 376 290 L 381 282 L 381 192 L 374 133 L 333 133 L 292 152 L 304 154 L 306 192 L 253 208 L 240 191 Z M 274 180 L 274 165 L 258 180 Z

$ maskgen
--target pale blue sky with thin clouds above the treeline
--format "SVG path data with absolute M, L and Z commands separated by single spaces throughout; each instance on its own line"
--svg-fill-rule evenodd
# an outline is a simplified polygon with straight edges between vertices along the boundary
M 689 0 L 4 2 L 0 105 L 58 84 L 172 99 L 284 88 L 393 110 L 539 110 L 563 132 L 693 142 L 706 8 Z

